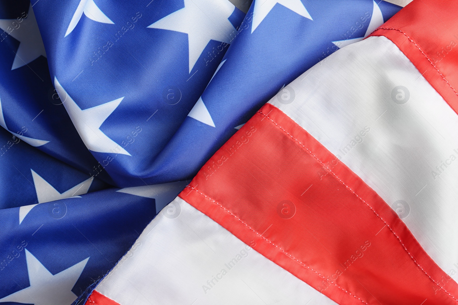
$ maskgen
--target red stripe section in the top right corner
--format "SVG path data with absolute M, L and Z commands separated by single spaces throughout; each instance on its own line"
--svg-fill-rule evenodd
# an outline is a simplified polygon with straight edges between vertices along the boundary
M 458 2 L 414 0 L 371 36 L 385 36 L 458 113 Z

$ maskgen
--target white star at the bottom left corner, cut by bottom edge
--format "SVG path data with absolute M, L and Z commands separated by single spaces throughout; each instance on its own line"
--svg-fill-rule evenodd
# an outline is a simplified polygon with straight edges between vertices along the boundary
M 85 260 L 52 275 L 36 257 L 26 251 L 30 286 L 0 299 L 0 302 L 16 302 L 34 305 L 71 305 L 77 296 L 71 289 L 86 267 Z

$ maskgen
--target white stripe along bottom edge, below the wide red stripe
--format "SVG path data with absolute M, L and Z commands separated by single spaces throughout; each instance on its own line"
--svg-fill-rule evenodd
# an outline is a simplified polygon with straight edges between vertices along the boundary
M 120 305 L 336 305 L 178 197 L 96 290 Z

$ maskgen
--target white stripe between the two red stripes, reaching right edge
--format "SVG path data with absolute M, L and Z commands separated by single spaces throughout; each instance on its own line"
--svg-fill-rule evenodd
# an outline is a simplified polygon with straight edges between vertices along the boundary
M 386 37 L 369 37 L 287 86 L 294 102 L 270 102 L 397 210 L 456 280 L 458 116 L 420 72 Z

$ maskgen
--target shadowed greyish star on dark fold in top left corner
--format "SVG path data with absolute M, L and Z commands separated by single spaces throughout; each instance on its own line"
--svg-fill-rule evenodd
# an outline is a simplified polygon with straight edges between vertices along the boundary
M 14 28 L 13 22 L 19 27 Z M 20 41 L 17 48 L 16 56 L 13 60 L 11 70 L 17 69 L 37 59 L 40 55 L 46 57 L 44 51 L 43 39 L 41 39 L 40 31 L 38 30 L 37 20 L 33 13 L 32 4 L 29 6 L 27 17 L 18 22 L 17 19 L 0 19 L 0 28 L 3 31 L 8 31 L 8 28 L 13 29 L 10 35 Z

